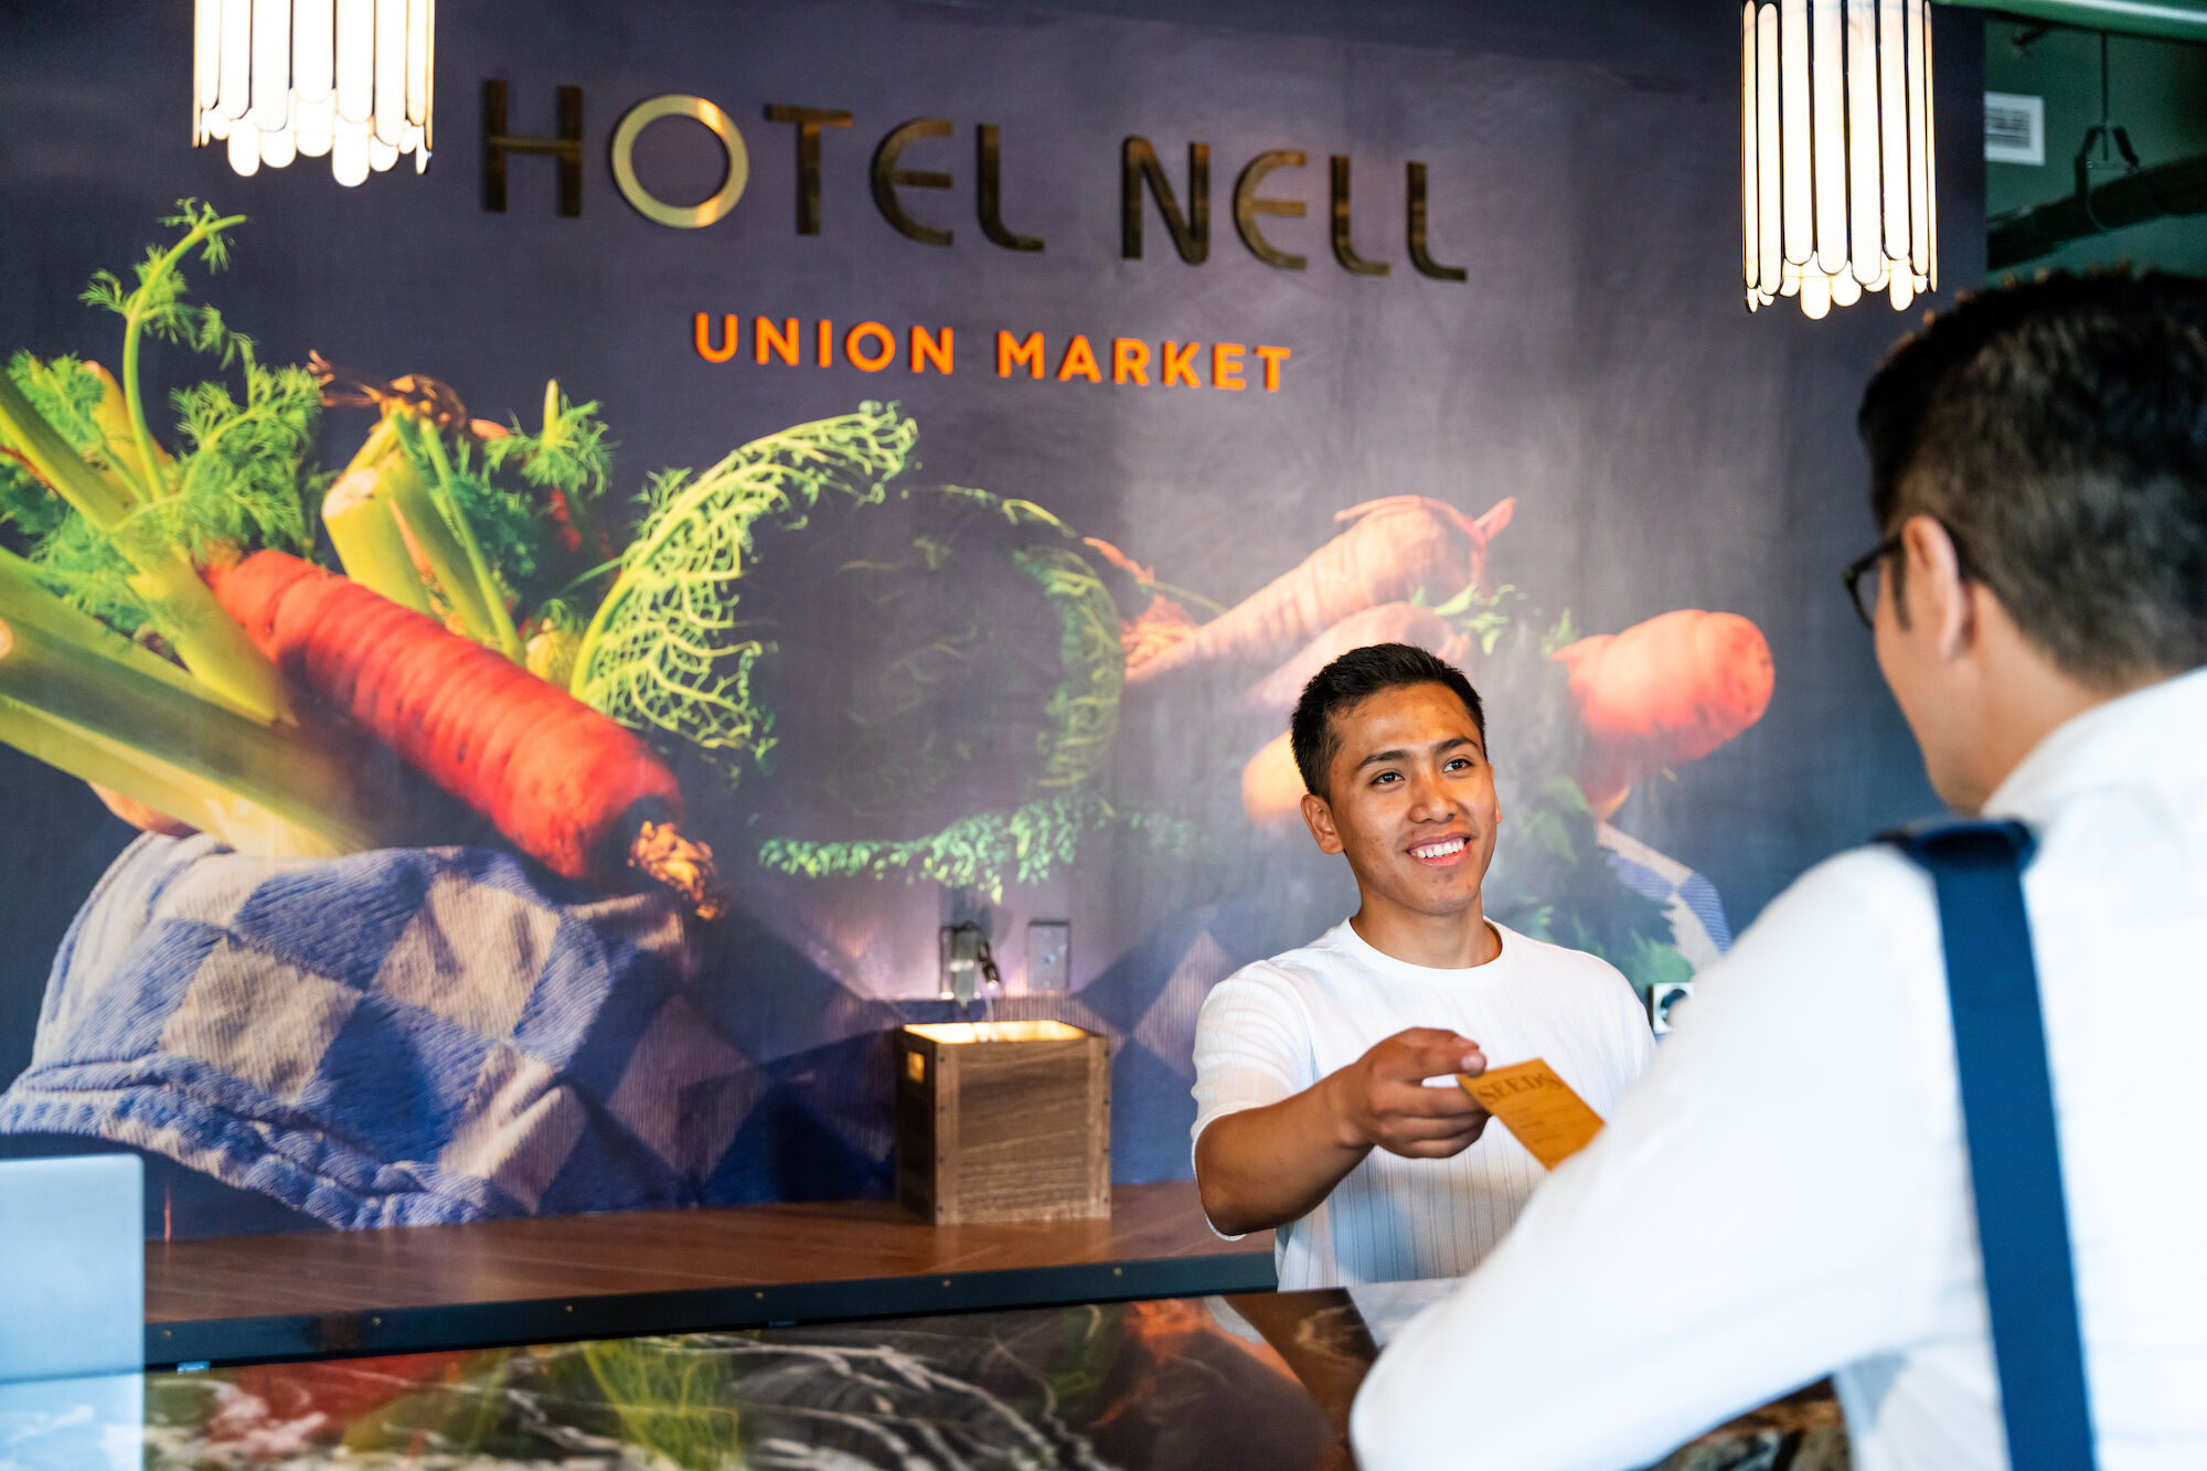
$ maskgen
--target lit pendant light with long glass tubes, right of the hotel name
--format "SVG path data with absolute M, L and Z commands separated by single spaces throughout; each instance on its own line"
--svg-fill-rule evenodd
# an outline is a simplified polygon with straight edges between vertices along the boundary
M 1739 33 L 1748 311 L 1907 309 L 1938 287 L 1929 0 L 1746 0 Z

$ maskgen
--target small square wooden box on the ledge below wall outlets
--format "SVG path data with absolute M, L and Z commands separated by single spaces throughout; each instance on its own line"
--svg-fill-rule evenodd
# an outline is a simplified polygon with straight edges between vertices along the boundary
M 1055 1020 L 896 1031 L 896 1197 L 936 1226 L 1110 1215 L 1110 1040 Z

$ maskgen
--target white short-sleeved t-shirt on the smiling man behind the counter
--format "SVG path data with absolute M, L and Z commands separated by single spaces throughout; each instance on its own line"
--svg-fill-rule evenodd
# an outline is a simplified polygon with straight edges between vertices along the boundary
M 1547 1058 L 1604 1118 L 1655 1051 L 1633 987 L 1609 963 L 1494 925 L 1501 954 L 1468 970 L 1410 965 L 1348 921 L 1243 965 L 1196 1018 L 1196 1129 L 1280 1102 L 1408 1027 L 1479 1043 L 1488 1067 Z M 1540 1164 L 1501 1124 L 1452 1160 L 1375 1149 L 1315 1210 L 1273 1232 L 1280 1288 L 1461 1277 L 1510 1230 Z

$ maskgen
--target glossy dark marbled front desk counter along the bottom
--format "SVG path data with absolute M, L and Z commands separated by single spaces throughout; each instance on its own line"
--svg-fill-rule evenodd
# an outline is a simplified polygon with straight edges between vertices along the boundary
M 0 1467 L 1318 1471 L 1446 1283 L 1152 1299 L 0 1387 Z M 1598 1411 L 1596 1411 L 1598 1414 Z M 1843 1471 L 1823 1389 L 1664 1471 Z

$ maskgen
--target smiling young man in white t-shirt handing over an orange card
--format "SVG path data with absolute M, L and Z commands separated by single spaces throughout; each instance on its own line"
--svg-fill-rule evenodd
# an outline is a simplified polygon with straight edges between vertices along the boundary
M 1360 906 L 1203 1003 L 1203 1210 L 1223 1235 L 1273 1228 L 1282 1290 L 1457 1277 L 1540 1166 L 1452 1076 L 1538 1056 L 1607 1113 L 1653 1038 L 1607 963 L 1485 917 L 1501 808 L 1459 669 L 1401 643 L 1342 654 L 1291 738 L 1302 817 L 1348 859 Z

